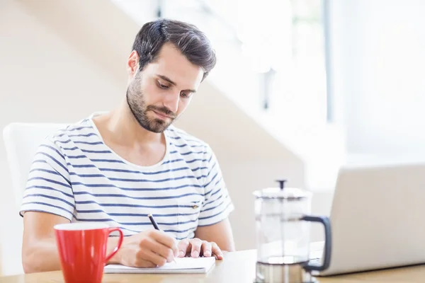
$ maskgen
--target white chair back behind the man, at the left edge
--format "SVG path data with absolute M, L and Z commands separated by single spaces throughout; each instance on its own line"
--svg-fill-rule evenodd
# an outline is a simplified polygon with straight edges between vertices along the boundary
M 21 207 L 23 192 L 26 187 L 28 173 L 38 146 L 51 132 L 64 124 L 50 123 L 18 123 L 13 122 L 3 129 L 6 157 L 11 173 L 13 195 L 16 211 Z M 23 273 L 21 260 L 22 222 L 13 224 L 13 231 L 8 231 L 1 239 L 1 272 L 3 276 Z M 13 255 L 13 257 L 11 257 Z

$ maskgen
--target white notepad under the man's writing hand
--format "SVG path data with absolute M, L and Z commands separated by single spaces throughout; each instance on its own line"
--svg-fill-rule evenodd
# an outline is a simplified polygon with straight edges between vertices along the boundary
M 176 258 L 162 267 L 128 267 L 125 265 L 106 265 L 104 273 L 207 273 L 215 265 L 215 258 Z

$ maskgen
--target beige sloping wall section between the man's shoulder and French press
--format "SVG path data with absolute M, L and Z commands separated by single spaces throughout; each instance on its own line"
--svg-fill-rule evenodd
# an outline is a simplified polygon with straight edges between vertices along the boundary
M 304 187 L 304 165 L 210 83 L 200 91 L 176 125 L 212 146 L 236 207 L 230 220 L 237 249 L 255 248 L 252 192 L 277 187 L 279 178 Z

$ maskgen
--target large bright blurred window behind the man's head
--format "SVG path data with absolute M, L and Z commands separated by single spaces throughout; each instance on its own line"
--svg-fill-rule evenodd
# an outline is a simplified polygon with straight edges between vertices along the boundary
M 231 62 L 245 73 L 249 70 L 252 76 L 244 74 L 249 78 L 246 82 L 259 79 L 259 85 L 251 83 L 246 89 L 229 86 L 227 93 L 235 99 L 251 100 L 250 105 L 278 120 L 327 123 L 332 122 L 328 1 L 163 0 L 159 4 L 162 16 L 189 21 L 205 31 L 219 50 L 220 62 Z M 241 58 L 229 52 L 235 48 Z M 215 73 L 222 78 L 216 78 L 228 81 L 226 71 L 231 68 L 218 68 Z M 249 94 L 252 88 L 260 91 Z

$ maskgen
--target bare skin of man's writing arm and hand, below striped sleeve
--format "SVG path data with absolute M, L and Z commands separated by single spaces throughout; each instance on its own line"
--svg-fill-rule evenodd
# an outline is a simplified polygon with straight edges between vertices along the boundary
M 69 223 L 69 219 L 45 212 L 26 212 L 23 222 L 25 226 L 22 246 L 24 272 L 60 270 L 60 258 L 53 226 Z M 106 254 L 110 254 L 117 243 L 118 237 L 109 237 Z M 108 263 L 156 267 L 174 260 L 177 252 L 176 242 L 171 236 L 162 231 L 145 231 L 125 237 L 120 250 Z

